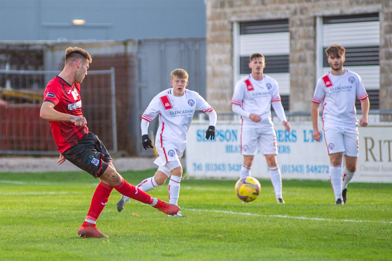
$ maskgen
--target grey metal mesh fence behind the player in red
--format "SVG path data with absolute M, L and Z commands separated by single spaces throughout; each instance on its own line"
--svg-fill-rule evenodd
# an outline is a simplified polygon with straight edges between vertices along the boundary
M 0 154 L 58 153 L 40 108 L 47 82 L 59 72 L 0 70 Z M 89 71 L 80 92 L 89 130 L 117 152 L 114 68 Z

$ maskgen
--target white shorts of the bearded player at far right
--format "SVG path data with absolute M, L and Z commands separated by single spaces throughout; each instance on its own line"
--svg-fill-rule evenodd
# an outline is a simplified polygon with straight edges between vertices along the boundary
M 358 127 L 324 127 L 323 131 L 328 155 L 344 152 L 347 156 L 358 157 Z

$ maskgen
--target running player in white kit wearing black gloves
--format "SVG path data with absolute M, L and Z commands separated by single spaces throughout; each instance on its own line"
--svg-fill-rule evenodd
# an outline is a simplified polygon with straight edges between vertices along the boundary
M 158 171 L 154 176 L 146 178 L 136 187 L 142 191 L 150 191 L 158 185 L 165 184 L 170 176 L 168 191 L 169 202 L 178 205 L 182 166 L 180 158 L 187 146 L 187 131 L 196 110 L 202 110 L 209 116 L 210 126 L 206 131 L 206 139 L 215 139 L 216 112 L 203 97 L 192 90 L 185 90 L 188 85 L 188 73 L 183 69 L 171 72 L 171 85 L 160 92 L 150 102 L 142 115 L 143 148 L 154 148 L 147 133 L 149 122 L 159 115 L 159 128 L 156 133 L 155 148 L 159 154 L 154 163 Z M 129 197 L 123 196 L 117 202 L 117 210 L 122 211 Z M 169 215 L 170 216 L 170 215 Z M 174 216 L 183 217 L 178 212 Z

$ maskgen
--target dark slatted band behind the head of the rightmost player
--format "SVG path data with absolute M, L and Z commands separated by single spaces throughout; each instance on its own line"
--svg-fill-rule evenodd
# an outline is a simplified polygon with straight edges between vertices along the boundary
M 324 47 L 323 65 L 329 67 L 326 49 L 327 47 Z M 379 46 L 346 47 L 345 49 L 345 66 L 379 65 Z

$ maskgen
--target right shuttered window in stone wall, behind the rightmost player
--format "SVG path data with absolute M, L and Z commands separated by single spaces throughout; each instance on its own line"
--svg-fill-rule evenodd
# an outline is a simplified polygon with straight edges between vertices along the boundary
M 380 23 L 379 14 L 325 16 L 318 21 L 318 77 L 330 70 L 325 49 L 339 43 L 346 49 L 344 67 L 361 76 L 369 99 L 370 108 L 379 108 L 380 89 Z M 366 33 L 364 33 L 366 32 Z M 321 54 L 322 52 L 322 54 Z M 361 108 L 357 100 L 357 109 Z

